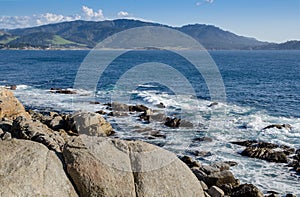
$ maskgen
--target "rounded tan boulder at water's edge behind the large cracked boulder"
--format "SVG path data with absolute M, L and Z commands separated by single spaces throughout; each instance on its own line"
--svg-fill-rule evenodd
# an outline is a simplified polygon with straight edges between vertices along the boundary
M 100 114 L 77 112 L 70 118 L 70 128 L 79 134 L 90 136 L 109 136 L 113 128 Z

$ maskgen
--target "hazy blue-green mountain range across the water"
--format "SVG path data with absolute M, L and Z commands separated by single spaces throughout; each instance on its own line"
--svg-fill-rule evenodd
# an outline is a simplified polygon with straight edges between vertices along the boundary
M 300 41 L 268 43 L 204 24 L 171 27 L 139 20 L 71 21 L 38 27 L 0 30 L 0 48 L 93 48 L 105 38 L 135 27 L 162 26 L 181 31 L 208 50 L 300 50 Z

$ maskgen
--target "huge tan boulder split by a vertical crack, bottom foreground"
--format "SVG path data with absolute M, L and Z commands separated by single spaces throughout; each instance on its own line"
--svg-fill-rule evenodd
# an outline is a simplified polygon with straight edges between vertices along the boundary
M 63 155 L 81 196 L 204 196 L 183 162 L 145 142 L 81 135 Z

